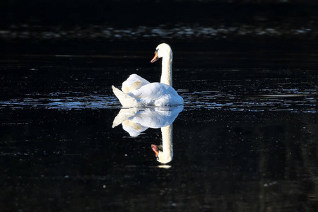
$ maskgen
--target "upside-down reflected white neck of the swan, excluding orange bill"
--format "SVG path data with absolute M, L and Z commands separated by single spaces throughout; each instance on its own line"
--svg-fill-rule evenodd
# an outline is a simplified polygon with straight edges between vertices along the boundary
M 161 127 L 161 134 L 163 136 L 163 152 L 160 155 L 160 162 L 169 163 L 173 157 L 172 124 Z

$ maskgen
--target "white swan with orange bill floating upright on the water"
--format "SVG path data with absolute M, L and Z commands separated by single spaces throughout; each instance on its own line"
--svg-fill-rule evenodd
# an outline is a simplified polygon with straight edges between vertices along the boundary
M 183 98 L 172 88 L 172 49 L 169 45 L 158 45 L 151 63 L 159 58 L 163 58 L 160 83 L 150 83 L 137 74 L 131 74 L 122 83 L 122 90 L 112 86 L 123 107 L 183 105 Z

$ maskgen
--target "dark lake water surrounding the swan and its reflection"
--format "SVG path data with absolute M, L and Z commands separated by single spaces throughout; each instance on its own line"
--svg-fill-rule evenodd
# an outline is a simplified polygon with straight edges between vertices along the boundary
M 2 58 L 4 211 L 317 210 L 314 54 L 175 54 L 184 107 L 163 164 L 151 149 L 160 129 L 112 128 L 121 105 L 111 86 L 160 77 L 146 53 Z

